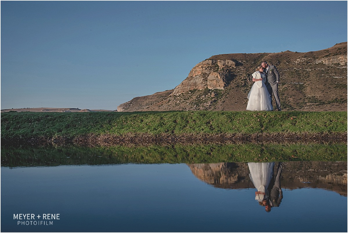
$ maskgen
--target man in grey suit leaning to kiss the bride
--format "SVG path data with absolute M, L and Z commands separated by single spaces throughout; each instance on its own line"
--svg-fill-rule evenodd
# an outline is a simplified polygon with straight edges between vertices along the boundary
M 278 93 L 278 83 L 279 83 L 279 72 L 274 65 L 268 65 L 266 61 L 261 62 L 261 66 L 266 73 L 266 87 L 269 94 L 272 97 L 272 92 L 274 95 L 274 99 L 276 100 L 276 107 L 278 111 L 281 111 L 280 108 L 280 99 Z M 272 99 L 272 98 L 271 98 Z

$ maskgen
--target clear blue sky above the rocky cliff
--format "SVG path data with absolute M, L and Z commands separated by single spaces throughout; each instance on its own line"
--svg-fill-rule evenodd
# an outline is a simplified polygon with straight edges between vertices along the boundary
M 347 41 L 347 1 L 1 1 L 1 109 L 115 110 L 217 54 Z

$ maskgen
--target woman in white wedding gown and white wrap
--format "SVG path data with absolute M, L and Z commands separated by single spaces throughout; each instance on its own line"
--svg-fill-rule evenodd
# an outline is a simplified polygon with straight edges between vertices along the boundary
M 266 74 L 263 72 L 263 67 L 259 66 L 252 74 L 253 86 L 248 94 L 248 105 L 246 110 L 249 111 L 272 111 L 271 95 L 269 94 L 266 85 L 264 84 Z

